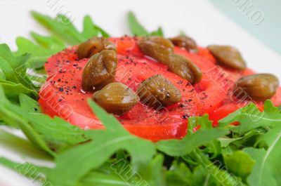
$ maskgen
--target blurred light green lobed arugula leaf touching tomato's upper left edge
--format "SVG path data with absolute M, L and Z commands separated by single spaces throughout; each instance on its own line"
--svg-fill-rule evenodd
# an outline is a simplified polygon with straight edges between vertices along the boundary
M 24 37 L 18 37 L 16 39 L 18 51 L 15 52 L 15 55 L 31 53 L 30 58 L 27 60 L 29 67 L 43 67 L 48 57 L 65 48 L 63 42 L 54 36 L 41 36 L 32 32 L 32 37 L 39 43 L 39 45 L 34 44 L 32 41 L 25 39 Z

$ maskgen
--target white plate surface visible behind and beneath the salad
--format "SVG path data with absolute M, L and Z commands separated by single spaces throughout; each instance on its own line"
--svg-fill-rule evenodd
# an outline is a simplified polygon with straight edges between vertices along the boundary
M 58 11 L 55 11 L 54 6 L 50 6 L 50 2 L 53 1 L 55 0 L 0 0 L 0 43 L 6 43 L 16 50 L 17 36 L 29 37 L 30 31 L 46 34 L 45 29 L 32 20 L 30 11 L 55 15 Z M 150 31 L 161 25 L 166 36 L 175 36 L 183 29 L 201 46 L 208 44 L 236 46 L 242 51 L 249 67 L 257 72 L 271 72 L 281 79 L 281 56 L 235 25 L 209 1 L 59 0 L 56 6 L 58 5 L 63 6 L 63 13 L 69 11 L 68 15 L 74 18 L 74 24 L 79 29 L 82 18 L 89 14 L 97 25 L 110 32 L 112 36 L 129 34 L 126 13 L 131 10 Z M 0 145 L 0 156 L 17 161 L 30 160 L 3 145 Z M 10 185 L 26 186 L 34 183 L 0 166 L 0 186 Z

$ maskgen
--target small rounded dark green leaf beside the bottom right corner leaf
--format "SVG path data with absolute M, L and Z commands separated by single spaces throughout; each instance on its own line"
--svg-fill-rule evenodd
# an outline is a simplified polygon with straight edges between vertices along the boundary
M 223 154 L 226 168 L 230 173 L 242 178 L 244 182 L 251 173 L 255 161 L 248 154 L 242 151 L 236 151 L 233 154 Z

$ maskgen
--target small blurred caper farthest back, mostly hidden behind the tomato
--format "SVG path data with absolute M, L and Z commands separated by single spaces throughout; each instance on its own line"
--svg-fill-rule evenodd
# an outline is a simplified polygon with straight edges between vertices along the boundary
M 194 39 L 189 36 L 176 36 L 170 39 L 175 46 L 185 48 L 186 51 L 197 53 L 197 44 Z

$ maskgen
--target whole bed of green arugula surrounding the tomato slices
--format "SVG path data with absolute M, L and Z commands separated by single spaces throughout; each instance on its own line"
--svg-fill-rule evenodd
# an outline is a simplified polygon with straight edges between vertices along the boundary
M 15 52 L 0 44 L 0 125 L 5 128 L 0 129 L 0 143 L 55 166 L 22 164 L 6 157 L 0 158 L 0 164 L 53 186 L 281 185 L 281 113 L 269 100 L 263 112 L 254 104 L 247 105 L 221 119 L 216 128 L 207 114 L 191 117 L 183 139 L 156 143 L 131 135 L 91 100 L 89 105 L 105 130 L 84 131 L 43 114 L 37 98 L 46 80 L 46 59 L 92 36 L 110 34 L 89 16 L 81 32 L 63 15 L 50 18 L 32 12 L 32 16 L 50 36 L 31 32 L 33 41 L 18 37 Z M 132 35 L 163 36 L 161 27 L 148 32 L 131 12 L 128 21 Z M 230 125 L 234 121 L 240 125 Z M 201 128 L 194 133 L 197 124 Z M 16 128 L 26 138 L 6 128 Z

